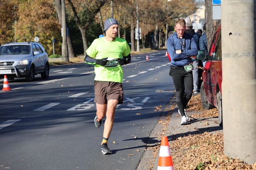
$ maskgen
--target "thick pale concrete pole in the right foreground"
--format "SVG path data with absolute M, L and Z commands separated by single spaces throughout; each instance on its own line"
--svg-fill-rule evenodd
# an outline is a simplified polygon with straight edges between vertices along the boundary
M 256 162 L 256 2 L 221 2 L 224 153 Z

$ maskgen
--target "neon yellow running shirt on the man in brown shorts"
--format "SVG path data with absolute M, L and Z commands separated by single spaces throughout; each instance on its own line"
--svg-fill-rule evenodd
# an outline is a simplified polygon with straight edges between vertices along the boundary
M 123 58 L 131 52 L 126 40 L 116 37 L 114 41 L 108 41 L 105 37 L 97 38 L 93 41 L 90 47 L 86 50 L 87 55 L 94 59 L 108 59 Z M 94 80 L 105 82 L 123 82 L 123 69 L 118 64 L 116 67 L 105 67 L 101 65 L 94 65 L 95 78 Z

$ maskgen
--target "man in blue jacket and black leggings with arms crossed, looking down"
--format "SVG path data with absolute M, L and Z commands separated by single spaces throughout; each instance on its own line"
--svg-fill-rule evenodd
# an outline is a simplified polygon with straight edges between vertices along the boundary
M 193 93 L 191 59 L 197 55 L 197 44 L 192 35 L 185 33 L 186 22 L 183 18 L 175 21 L 174 29 L 176 33 L 167 40 L 167 51 L 172 59 L 169 74 L 172 76 L 176 89 L 176 102 L 181 115 L 180 124 L 185 125 L 189 120 L 185 108 Z

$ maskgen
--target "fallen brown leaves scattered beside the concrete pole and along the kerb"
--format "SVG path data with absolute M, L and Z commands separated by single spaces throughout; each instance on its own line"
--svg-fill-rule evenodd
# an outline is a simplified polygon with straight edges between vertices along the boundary
M 165 135 L 170 115 L 173 112 L 174 106 L 166 107 L 170 114 L 166 120 L 158 121 L 165 127 L 163 133 L 158 133 L 159 137 Z M 204 110 L 201 105 L 200 95 L 192 96 L 187 106 L 187 111 L 197 111 L 200 114 L 193 114 L 191 117 L 217 117 L 218 111 L 216 108 Z M 172 155 L 173 166 L 176 170 L 256 170 L 256 163 L 249 165 L 243 160 L 230 158 L 224 155 L 223 133 L 209 133 L 188 135 L 169 140 L 170 152 Z M 153 150 L 153 160 L 158 155 L 160 142 L 155 143 L 155 146 L 147 147 L 146 150 Z M 147 162 L 147 168 L 152 170 L 154 161 Z

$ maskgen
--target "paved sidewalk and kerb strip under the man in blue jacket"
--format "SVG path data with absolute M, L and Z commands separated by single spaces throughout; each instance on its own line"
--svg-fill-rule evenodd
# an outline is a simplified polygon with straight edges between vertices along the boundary
M 197 95 L 200 95 L 197 94 Z M 187 115 L 189 117 L 189 121 L 187 125 L 180 125 L 180 114 L 178 113 L 178 107 L 176 105 L 176 98 L 173 97 L 169 103 L 165 106 L 165 111 L 163 111 L 163 115 L 160 118 L 158 122 L 164 122 L 166 117 L 169 115 L 169 120 L 167 122 L 167 127 L 165 133 L 162 136 L 167 136 L 168 142 L 174 141 L 180 137 L 185 137 L 192 134 L 202 134 L 204 132 L 209 133 L 216 133 L 216 132 L 222 132 L 222 127 L 218 124 L 218 117 L 202 117 L 202 118 L 196 118 L 196 117 L 190 117 L 190 115 L 194 114 L 200 114 L 199 111 L 187 111 Z M 173 110 L 172 113 L 170 108 L 166 109 L 168 107 L 172 107 L 171 110 Z M 162 125 L 161 125 L 162 124 Z M 148 141 L 148 147 L 152 147 L 153 149 L 147 149 L 141 158 L 140 165 L 138 166 L 137 170 L 145 170 L 145 169 L 153 169 L 157 170 L 158 166 L 158 155 L 159 153 L 159 145 L 161 143 L 161 133 L 163 133 L 161 127 L 163 127 L 164 123 L 157 123 L 156 127 L 152 131 L 150 135 L 150 140 L 158 140 L 156 143 L 150 143 L 150 140 Z M 156 146 L 158 145 L 158 147 Z M 155 150 L 155 151 L 154 151 Z M 155 160 L 152 160 L 154 155 L 157 154 L 157 157 Z M 171 154 L 172 154 L 172 148 L 171 148 Z M 149 167 L 149 164 L 154 164 L 153 167 Z M 174 165 L 175 167 L 175 165 Z

